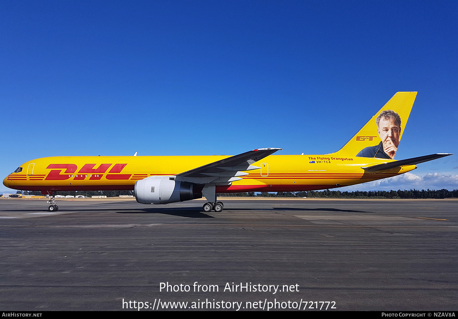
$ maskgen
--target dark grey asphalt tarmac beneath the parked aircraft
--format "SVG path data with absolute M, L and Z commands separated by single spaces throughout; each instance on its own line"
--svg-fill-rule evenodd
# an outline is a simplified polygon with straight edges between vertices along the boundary
M 0 200 L 0 310 L 458 308 L 458 200 L 218 200 Z

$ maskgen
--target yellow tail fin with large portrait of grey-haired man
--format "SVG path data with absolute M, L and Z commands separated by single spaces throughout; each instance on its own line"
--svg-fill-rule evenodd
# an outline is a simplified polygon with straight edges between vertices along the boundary
M 394 94 L 372 119 L 334 154 L 394 159 L 416 96 L 417 92 Z

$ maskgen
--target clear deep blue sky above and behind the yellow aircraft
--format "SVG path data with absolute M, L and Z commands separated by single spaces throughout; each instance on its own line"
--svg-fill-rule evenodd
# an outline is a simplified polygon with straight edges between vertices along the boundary
M 396 158 L 457 153 L 457 15 L 456 1 L 3 1 L 0 175 L 48 156 L 330 153 L 398 91 L 419 93 Z M 458 188 L 457 155 L 352 189 L 410 187 Z

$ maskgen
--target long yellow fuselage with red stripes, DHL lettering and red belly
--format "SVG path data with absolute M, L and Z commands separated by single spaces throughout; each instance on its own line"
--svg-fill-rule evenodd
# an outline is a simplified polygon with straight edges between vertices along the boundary
M 229 156 L 72 156 L 44 157 L 23 163 L 3 184 L 19 190 L 79 191 L 133 190 L 149 176 L 172 177 Z M 383 172 L 361 167 L 391 162 L 387 159 L 336 155 L 270 155 L 246 171 L 241 180 L 216 186 L 218 193 L 278 192 L 331 189 L 406 173 L 415 165 Z

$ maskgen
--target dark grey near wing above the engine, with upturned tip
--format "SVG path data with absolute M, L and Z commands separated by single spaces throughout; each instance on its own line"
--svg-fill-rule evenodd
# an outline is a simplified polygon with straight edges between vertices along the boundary
M 260 168 L 251 164 L 279 150 L 282 150 L 282 148 L 258 148 L 253 151 L 247 151 L 177 174 L 175 180 L 195 184 L 230 184 L 242 179 L 239 176 L 248 175 L 248 173 L 242 171 Z

